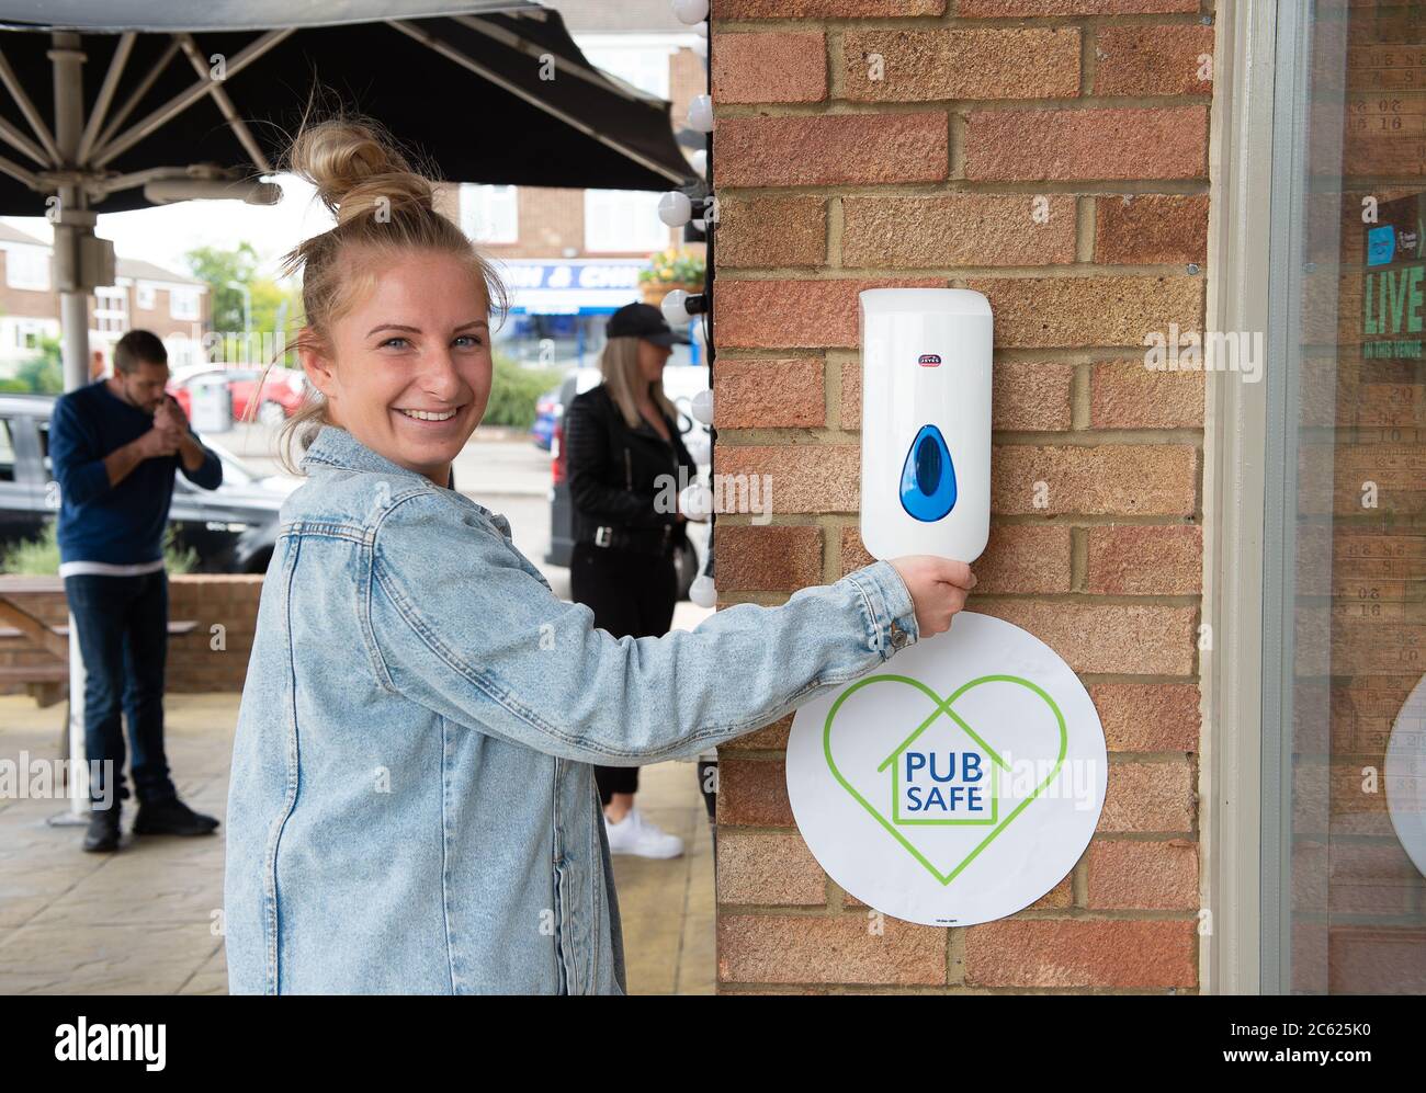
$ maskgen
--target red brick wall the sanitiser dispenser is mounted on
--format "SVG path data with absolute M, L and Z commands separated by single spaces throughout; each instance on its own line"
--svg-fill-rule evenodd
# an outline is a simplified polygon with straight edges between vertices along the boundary
M 870 561 L 857 292 L 978 289 L 994 529 L 971 608 L 1079 673 L 1111 760 L 1099 829 L 1040 902 L 877 933 L 797 834 L 790 718 L 723 748 L 724 992 L 1198 988 L 1204 385 L 1145 369 L 1142 339 L 1202 323 L 1209 10 L 714 0 L 717 469 L 773 475 L 776 497 L 769 526 L 720 516 L 722 597 L 780 603 Z

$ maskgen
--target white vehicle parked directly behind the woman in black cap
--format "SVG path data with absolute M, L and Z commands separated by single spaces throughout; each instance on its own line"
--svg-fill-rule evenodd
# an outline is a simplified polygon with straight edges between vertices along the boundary
M 549 487 L 549 553 L 545 561 L 550 566 L 569 567 L 575 549 L 573 503 L 569 497 L 569 476 L 565 467 L 565 408 L 590 388 L 599 386 L 597 368 L 576 368 L 559 385 L 559 408 L 555 412 L 553 435 L 550 437 L 550 487 Z M 712 435 L 706 425 L 693 418 L 693 396 L 709 389 L 709 371 L 702 365 L 667 365 L 663 369 L 663 393 L 679 410 L 679 432 L 689 455 L 699 465 L 699 477 L 707 483 L 709 465 L 713 452 Z M 689 520 L 687 547 L 673 557 L 679 571 L 679 599 L 689 597 L 693 579 L 703 567 L 707 556 L 709 523 Z

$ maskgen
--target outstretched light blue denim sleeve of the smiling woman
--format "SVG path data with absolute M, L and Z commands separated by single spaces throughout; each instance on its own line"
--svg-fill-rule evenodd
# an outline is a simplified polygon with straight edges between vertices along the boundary
M 692 631 L 616 638 L 589 607 L 556 597 L 483 516 L 448 499 L 396 503 L 371 542 L 364 628 L 381 685 L 582 762 L 693 757 L 918 638 L 888 561 L 779 607 L 734 604 Z

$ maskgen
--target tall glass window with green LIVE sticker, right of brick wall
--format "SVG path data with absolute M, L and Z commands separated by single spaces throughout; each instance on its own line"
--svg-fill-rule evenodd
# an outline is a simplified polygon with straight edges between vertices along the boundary
M 1278 20 L 1262 989 L 1423 993 L 1426 6 Z

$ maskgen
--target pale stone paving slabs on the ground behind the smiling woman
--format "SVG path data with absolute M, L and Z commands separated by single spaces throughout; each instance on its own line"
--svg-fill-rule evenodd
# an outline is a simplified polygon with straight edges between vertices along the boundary
M 238 695 L 171 695 L 168 760 L 178 792 L 222 817 Z M 63 705 L 0 695 L 0 758 L 53 758 Z M 713 855 L 696 767 L 646 767 L 640 808 L 689 848 L 616 858 L 632 993 L 713 993 Z M 227 992 L 221 828 L 205 838 L 134 836 L 84 854 L 83 828 L 51 827 L 64 801 L 0 798 L 0 993 Z

